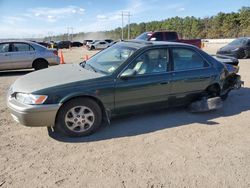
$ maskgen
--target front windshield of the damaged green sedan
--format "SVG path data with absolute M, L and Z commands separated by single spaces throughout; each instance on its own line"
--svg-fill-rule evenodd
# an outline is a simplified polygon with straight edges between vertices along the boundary
M 112 74 L 135 51 L 136 48 L 129 47 L 124 43 L 117 43 L 97 53 L 86 62 L 86 65 L 97 72 Z

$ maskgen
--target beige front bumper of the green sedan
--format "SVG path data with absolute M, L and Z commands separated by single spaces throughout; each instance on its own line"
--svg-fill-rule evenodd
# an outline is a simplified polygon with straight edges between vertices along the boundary
M 7 101 L 11 116 L 15 121 L 29 127 L 54 126 L 59 104 L 26 105 L 15 98 Z

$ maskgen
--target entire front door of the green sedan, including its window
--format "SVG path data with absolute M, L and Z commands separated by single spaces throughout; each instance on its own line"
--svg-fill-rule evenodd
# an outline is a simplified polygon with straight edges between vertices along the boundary
M 168 64 L 167 49 L 148 50 L 137 57 L 126 69 L 135 71 L 136 75 L 116 80 L 116 112 L 167 102 L 171 92 Z

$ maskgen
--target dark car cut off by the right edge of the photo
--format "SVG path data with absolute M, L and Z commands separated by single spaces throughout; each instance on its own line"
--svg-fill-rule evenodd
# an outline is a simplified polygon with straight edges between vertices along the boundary
M 235 39 L 228 45 L 220 48 L 217 54 L 233 56 L 238 59 L 250 57 L 250 38 L 242 37 Z

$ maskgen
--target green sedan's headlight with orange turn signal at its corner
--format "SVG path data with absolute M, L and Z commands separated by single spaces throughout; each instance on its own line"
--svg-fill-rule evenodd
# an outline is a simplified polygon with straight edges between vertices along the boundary
M 16 100 L 24 104 L 43 104 L 48 96 L 17 93 Z

